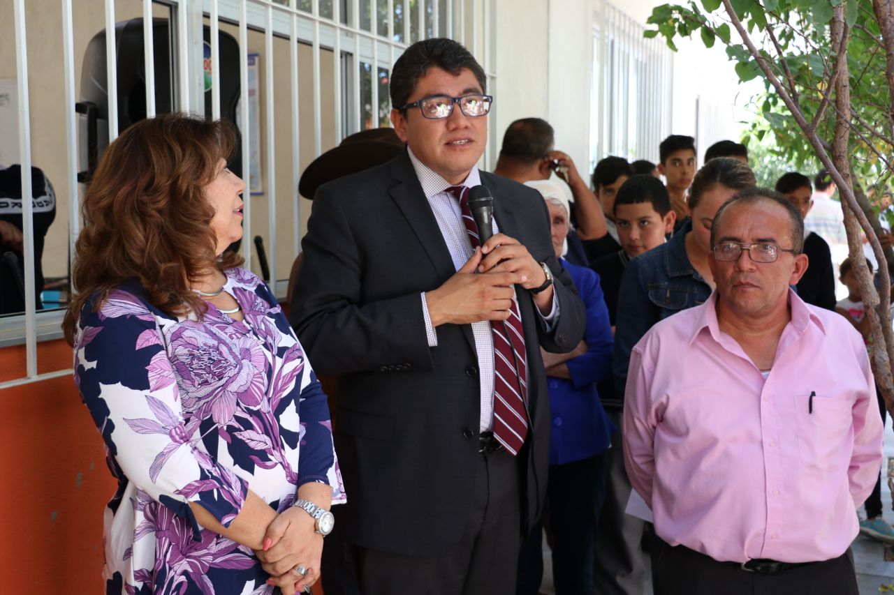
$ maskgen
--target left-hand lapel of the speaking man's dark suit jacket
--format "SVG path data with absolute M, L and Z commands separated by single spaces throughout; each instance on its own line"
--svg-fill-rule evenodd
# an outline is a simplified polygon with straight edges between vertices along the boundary
M 392 161 L 392 177 L 397 182 L 390 190 L 392 199 L 407 218 L 409 227 L 426 251 L 438 278 L 446 281 L 456 272 L 453 268 L 453 259 L 406 151 Z M 460 329 L 469 346 L 475 351 L 475 336 L 472 334 L 471 325 L 460 324 Z

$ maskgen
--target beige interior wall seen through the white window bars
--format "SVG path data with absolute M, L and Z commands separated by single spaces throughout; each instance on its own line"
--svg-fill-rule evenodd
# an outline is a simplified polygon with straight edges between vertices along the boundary
M 69 185 L 65 156 L 65 109 L 63 87 L 63 29 L 62 3 L 59 0 L 28 0 L 25 19 L 27 23 L 29 93 L 30 93 L 30 131 L 32 163 L 46 172 L 55 186 L 57 205 L 56 218 L 46 236 L 44 249 L 44 272 L 47 277 L 64 276 L 68 267 L 68 205 Z M 81 65 L 89 40 L 105 28 L 105 8 L 101 0 L 76 0 L 72 14 L 74 24 L 74 69 L 75 86 L 80 89 Z M 142 16 L 140 0 L 116 0 L 115 20 L 127 21 Z M 168 8 L 156 4 L 156 17 L 167 17 Z M 16 78 L 15 29 L 13 20 L 13 0 L 0 0 L 0 14 L 7 16 L 0 20 L 0 79 Z M 222 30 L 239 38 L 239 29 L 222 25 Z M 251 233 L 247 238 L 261 235 L 269 252 L 268 206 L 270 197 L 267 182 L 266 163 L 266 59 L 265 38 L 263 33 L 249 31 L 249 53 L 260 54 L 259 86 L 260 86 L 260 122 L 261 130 L 252 130 L 251 134 L 260 134 L 262 147 L 262 169 L 265 194 L 251 197 Z M 289 41 L 274 39 L 274 102 L 275 102 L 275 176 L 277 211 L 277 277 L 288 277 L 292 260 L 293 235 L 291 222 L 293 217 L 292 193 L 297 187 L 300 172 L 292 172 L 291 157 L 291 65 Z M 321 52 L 321 114 L 322 114 L 322 147 L 333 147 L 333 59 L 332 53 Z M 80 96 L 78 90 L 76 98 Z M 300 164 L 301 170 L 310 163 L 314 155 L 314 105 L 313 105 L 313 70 L 311 48 L 299 45 L 299 127 L 300 127 Z M 10 163 L 5 163 L 10 164 Z M 301 233 L 307 229 L 310 213 L 310 201 L 300 199 Z M 253 258 L 251 268 L 260 272 L 257 256 Z

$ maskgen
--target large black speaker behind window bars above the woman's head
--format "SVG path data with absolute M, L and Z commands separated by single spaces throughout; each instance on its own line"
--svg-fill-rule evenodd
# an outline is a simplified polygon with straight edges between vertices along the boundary
M 173 94 L 173 31 L 167 19 L 152 20 L 155 53 L 156 113 L 171 113 Z M 205 62 L 211 61 L 211 28 L 205 27 Z M 236 127 L 236 105 L 240 98 L 239 43 L 232 35 L 219 32 L 220 80 L 205 74 L 205 113 L 211 113 L 213 85 L 220 86 L 221 118 L 232 122 L 239 135 L 230 169 L 242 176 L 242 140 Z M 146 117 L 146 61 L 143 47 L 143 20 L 115 24 L 115 57 L 118 77 L 118 132 Z M 86 182 L 97 166 L 99 155 L 108 146 L 108 82 L 105 71 L 105 29 L 98 32 L 84 53 L 80 76 L 79 181 Z

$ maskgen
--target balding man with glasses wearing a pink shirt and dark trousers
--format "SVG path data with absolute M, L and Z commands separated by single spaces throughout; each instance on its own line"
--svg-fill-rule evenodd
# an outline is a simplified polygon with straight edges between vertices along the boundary
M 863 339 L 789 289 L 804 223 L 776 192 L 721 207 L 716 290 L 630 356 L 625 463 L 663 543 L 655 595 L 856 595 L 848 546 L 881 466 Z

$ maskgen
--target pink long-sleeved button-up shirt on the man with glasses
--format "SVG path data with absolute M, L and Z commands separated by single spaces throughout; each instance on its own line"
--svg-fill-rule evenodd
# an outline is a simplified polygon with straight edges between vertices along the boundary
M 863 339 L 789 291 L 791 321 L 764 380 L 718 328 L 716 298 L 655 324 L 633 348 L 630 482 L 671 545 L 734 562 L 838 557 L 881 466 Z

